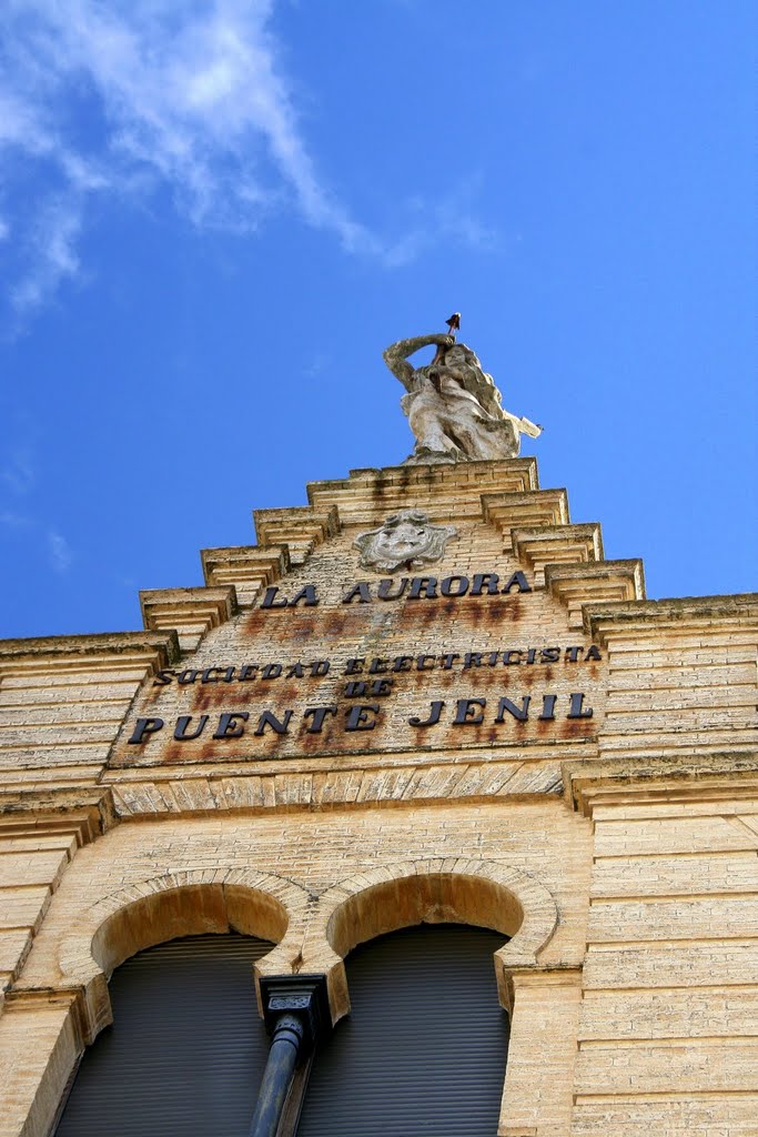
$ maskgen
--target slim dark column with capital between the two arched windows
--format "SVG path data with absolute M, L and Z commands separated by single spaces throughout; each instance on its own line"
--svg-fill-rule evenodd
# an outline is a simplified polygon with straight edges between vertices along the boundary
M 297 1070 L 309 1065 L 316 1043 L 332 1029 L 326 976 L 266 977 L 260 997 L 272 1045 L 249 1137 L 276 1137 Z

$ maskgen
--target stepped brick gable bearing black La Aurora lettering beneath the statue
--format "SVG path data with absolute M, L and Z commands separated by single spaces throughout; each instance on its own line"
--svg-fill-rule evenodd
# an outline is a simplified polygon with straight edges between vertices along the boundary
M 226 773 L 234 786 L 224 786 L 225 804 L 239 800 L 241 792 L 260 807 L 281 803 L 281 795 L 293 803 L 302 803 L 303 794 L 309 802 L 336 803 L 374 800 L 376 795 L 555 792 L 556 747 L 594 755 L 603 717 L 603 663 L 597 654 L 586 666 L 573 665 L 584 661 L 591 646 L 581 603 L 618 594 L 599 590 L 598 581 L 613 575 L 602 561 L 599 525 L 570 524 L 565 490 L 541 490 L 533 458 L 358 470 L 343 480 L 310 483 L 308 499 L 306 507 L 257 511 L 257 546 L 205 550 L 206 590 L 149 594 L 145 620 L 149 609 L 151 625 L 167 626 L 173 612 L 182 613 L 176 630 L 185 648 L 184 670 L 181 682 L 175 673 L 163 688 L 152 681 L 143 690 L 111 758 L 111 769 L 124 771 L 122 783 L 128 769 L 135 775 L 142 770 L 144 779 L 145 766 L 160 767 L 173 778 L 200 765 L 203 795 L 217 799 L 217 779 Z M 408 509 L 433 525 L 452 526 L 456 536 L 439 564 L 394 573 L 364 567 L 356 537 Z M 564 570 L 585 578 L 578 601 L 575 591 L 545 583 L 550 572 Z M 494 584 L 498 576 L 500 584 Z M 393 581 L 388 595 L 402 587 L 406 595 L 381 599 L 378 584 L 385 578 Z M 422 581 L 418 597 L 409 595 L 411 578 Z M 428 586 L 423 583 L 427 580 Z M 508 581 L 513 583 L 503 596 Z M 222 583 L 233 587 L 234 595 L 223 592 Z M 438 584 L 448 589 L 447 598 Z M 469 595 L 457 595 L 459 589 Z M 489 595 L 492 589 L 497 595 Z M 570 619 L 577 603 L 578 619 Z M 188 650 L 192 637 L 197 650 Z M 549 656 L 544 666 L 532 667 L 545 648 L 552 661 Z M 505 650 L 508 664 L 528 657 L 528 670 L 503 663 Z M 323 657 L 328 673 L 307 673 L 316 657 Z M 351 658 L 364 661 L 357 666 L 366 674 L 356 678 Z M 445 659 L 452 662 L 443 665 Z M 391 671 L 395 665 L 401 671 Z M 255 682 L 249 681 L 251 669 L 258 669 Z M 290 674 L 298 669 L 306 674 Z M 466 699 L 474 700 L 470 721 L 456 723 Z M 500 709 L 499 722 L 476 721 L 477 699 L 484 700 L 490 720 Z M 435 703 L 444 714 L 434 711 Z M 374 708 L 367 720 L 376 714 L 370 728 L 350 720 L 351 709 L 358 714 L 361 704 Z M 553 722 L 556 706 L 560 727 Z M 318 707 L 327 708 L 320 724 L 313 717 Z M 566 720 L 569 707 L 577 713 Z M 535 721 L 540 709 L 543 717 Z M 240 719 L 232 727 L 226 720 L 228 737 L 214 737 L 223 733 L 220 714 L 242 711 L 248 719 L 239 740 L 232 731 Z M 266 713 L 269 717 L 261 719 Z M 435 722 L 425 729 L 434 713 L 440 714 L 439 729 Z M 145 719 L 159 719 L 161 733 L 156 730 L 153 738 L 148 730 L 130 742 L 139 733 L 135 723 Z M 310 730 L 308 722 L 318 729 Z M 186 737 L 172 738 L 174 729 Z M 349 758 L 353 772 L 334 769 L 336 758 Z M 528 767 L 522 769 L 525 761 Z M 242 777 L 249 781 L 244 790 L 236 781 Z M 118 792 L 125 792 L 123 785 Z M 142 796 L 138 805 L 130 792 L 120 808 L 155 808 L 155 798 Z

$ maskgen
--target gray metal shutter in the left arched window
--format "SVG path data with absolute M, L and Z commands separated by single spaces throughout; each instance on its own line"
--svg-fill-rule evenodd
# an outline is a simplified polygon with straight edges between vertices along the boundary
M 84 1054 L 57 1137 L 244 1137 L 268 1055 L 263 939 L 191 936 L 127 960 L 114 1024 Z

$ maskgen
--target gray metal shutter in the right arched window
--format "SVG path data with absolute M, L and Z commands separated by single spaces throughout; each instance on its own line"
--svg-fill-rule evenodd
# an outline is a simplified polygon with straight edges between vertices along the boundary
M 481 928 L 406 928 L 347 961 L 352 1012 L 316 1053 L 298 1137 L 495 1137 L 508 1047 Z

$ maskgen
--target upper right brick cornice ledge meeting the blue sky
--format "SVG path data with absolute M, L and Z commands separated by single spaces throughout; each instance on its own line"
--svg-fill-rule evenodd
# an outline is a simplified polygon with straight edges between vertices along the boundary
M 758 622 L 758 592 L 725 596 L 685 596 L 661 600 L 618 600 L 582 605 L 584 628 L 592 639 L 605 639 L 613 629 L 649 630 L 651 624 L 686 623 L 714 619 L 753 617 Z

